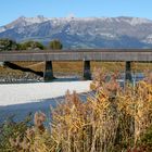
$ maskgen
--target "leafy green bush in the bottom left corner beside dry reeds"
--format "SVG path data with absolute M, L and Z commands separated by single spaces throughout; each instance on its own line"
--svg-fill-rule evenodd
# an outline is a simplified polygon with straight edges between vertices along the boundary
M 11 145 L 10 139 L 18 139 L 25 136 L 26 130 L 31 126 L 31 114 L 25 119 L 16 123 L 14 116 L 9 117 L 4 123 L 0 124 L 0 151 L 13 152 L 14 147 Z M 16 140 L 17 141 L 17 140 Z M 18 141 L 17 141 L 18 142 Z

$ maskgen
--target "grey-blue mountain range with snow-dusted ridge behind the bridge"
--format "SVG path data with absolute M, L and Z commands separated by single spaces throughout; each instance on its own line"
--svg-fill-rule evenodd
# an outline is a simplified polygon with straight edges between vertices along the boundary
M 152 21 L 139 17 L 20 17 L 0 27 L 16 41 L 60 39 L 65 48 L 152 48 Z

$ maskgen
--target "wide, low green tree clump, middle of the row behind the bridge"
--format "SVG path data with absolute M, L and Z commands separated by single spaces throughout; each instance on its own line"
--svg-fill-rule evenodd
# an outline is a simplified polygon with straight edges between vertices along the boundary
M 39 41 L 26 41 L 23 43 L 20 43 L 21 50 L 43 50 L 45 46 L 40 43 Z

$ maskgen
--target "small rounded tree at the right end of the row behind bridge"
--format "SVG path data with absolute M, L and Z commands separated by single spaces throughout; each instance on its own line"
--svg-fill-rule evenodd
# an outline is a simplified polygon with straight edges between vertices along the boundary
M 50 41 L 49 48 L 52 50 L 61 50 L 63 48 L 63 46 L 60 40 L 54 39 L 54 40 Z

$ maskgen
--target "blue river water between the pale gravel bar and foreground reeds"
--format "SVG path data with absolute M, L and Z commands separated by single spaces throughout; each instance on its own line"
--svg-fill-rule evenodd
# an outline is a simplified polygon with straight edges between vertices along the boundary
M 89 93 L 80 93 L 79 98 L 83 101 L 87 100 L 88 96 L 92 96 L 93 92 Z M 64 101 L 65 97 L 59 97 L 59 98 L 52 98 L 47 100 L 41 100 L 39 102 L 33 102 L 33 103 L 25 103 L 25 104 L 16 104 L 16 105 L 8 105 L 8 106 L 0 106 L 0 123 L 5 121 L 8 117 L 14 115 L 14 121 L 20 122 L 25 118 L 29 113 L 33 113 L 33 116 L 35 112 L 41 111 L 43 112 L 48 118 L 51 117 L 50 113 L 50 106 L 56 107 L 59 103 L 62 103 Z M 49 122 L 50 119 L 48 119 Z

